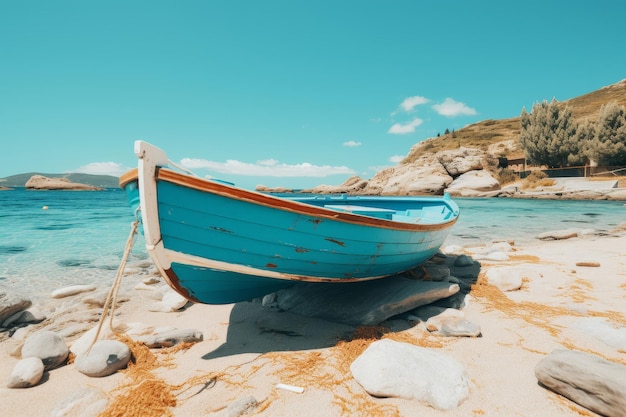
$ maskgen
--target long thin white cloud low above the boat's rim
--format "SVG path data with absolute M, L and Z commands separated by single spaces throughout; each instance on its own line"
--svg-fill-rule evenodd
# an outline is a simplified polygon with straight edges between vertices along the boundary
M 313 165 L 308 162 L 289 165 L 275 159 L 257 161 L 254 164 L 237 160 L 226 162 L 206 159 L 183 158 L 180 165 L 187 169 L 207 169 L 229 175 L 264 176 L 264 177 L 327 177 L 329 175 L 354 175 L 355 171 L 346 166 Z

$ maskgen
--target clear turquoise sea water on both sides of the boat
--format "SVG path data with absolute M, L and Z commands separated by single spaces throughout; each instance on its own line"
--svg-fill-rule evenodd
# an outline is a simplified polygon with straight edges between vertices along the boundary
M 624 202 L 455 199 L 461 216 L 445 245 L 512 239 L 529 243 L 544 231 L 609 231 L 626 222 Z M 44 209 L 45 208 L 45 209 Z M 134 217 L 126 194 L 108 191 L 0 191 L 0 288 L 31 298 L 66 285 L 115 278 Z M 141 236 L 129 262 L 147 259 Z

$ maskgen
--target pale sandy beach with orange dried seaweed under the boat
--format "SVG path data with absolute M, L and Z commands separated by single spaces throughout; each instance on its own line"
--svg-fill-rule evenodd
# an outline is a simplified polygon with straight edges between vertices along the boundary
M 131 289 L 128 301 L 116 309 L 116 321 L 197 329 L 203 340 L 161 349 L 129 342 L 134 359 L 123 371 L 91 378 L 69 363 L 25 389 L 6 388 L 19 358 L 10 354 L 15 342 L 4 340 L 1 414 L 50 416 L 55 410 L 55 415 L 90 415 L 84 409 L 59 411 L 64 400 L 88 389 L 109 399 L 100 414 L 104 416 L 227 415 L 237 402 L 257 402 L 250 415 L 258 416 L 593 416 L 540 386 L 534 368 L 562 348 L 626 364 L 623 347 L 603 338 L 606 329 L 623 334 L 626 327 L 626 230 L 537 240 L 523 247 L 510 243 L 506 260 L 479 260 L 478 282 L 462 310 L 468 321 L 480 326 L 480 337 L 443 337 L 431 334 L 424 323 L 399 319 L 355 329 L 260 302 L 152 312 L 149 292 L 132 289 L 145 277 L 126 276 Z M 444 246 L 443 252 L 479 259 L 487 246 L 455 248 L 454 253 L 446 253 Z M 487 283 L 488 271 L 495 268 L 524 268 L 521 289 L 502 292 Z M 68 344 L 78 336 L 68 337 Z M 350 364 L 381 337 L 458 360 L 471 380 L 469 397 L 457 408 L 441 411 L 418 401 L 367 394 L 352 377 Z

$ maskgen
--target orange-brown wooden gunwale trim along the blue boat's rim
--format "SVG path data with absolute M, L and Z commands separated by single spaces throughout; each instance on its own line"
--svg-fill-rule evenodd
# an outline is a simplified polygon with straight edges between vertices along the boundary
M 293 201 L 257 191 L 249 191 L 243 188 L 234 187 L 220 182 L 207 180 L 200 177 L 193 177 L 173 171 L 166 167 L 157 167 L 157 181 L 166 181 L 182 187 L 192 188 L 202 192 L 209 192 L 228 198 L 235 198 L 240 201 L 247 201 L 253 204 L 289 211 L 296 214 L 303 214 L 314 217 L 323 217 L 330 220 L 337 220 L 346 223 L 363 226 L 375 226 L 386 229 L 430 232 L 451 227 L 458 220 L 458 213 L 450 220 L 440 223 L 405 223 L 376 217 L 364 216 L 350 212 L 340 212 L 330 208 L 319 207 L 299 201 Z M 120 176 L 120 186 L 124 188 L 129 183 L 138 179 L 138 169 L 132 169 Z M 452 208 L 453 209 L 453 208 Z M 452 210 L 454 211 L 454 210 Z

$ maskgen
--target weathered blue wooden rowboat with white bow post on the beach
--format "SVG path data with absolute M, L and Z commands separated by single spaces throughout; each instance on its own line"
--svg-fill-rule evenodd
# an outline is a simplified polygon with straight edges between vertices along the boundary
M 448 196 L 295 195 L 181 173 L 135 142 L 138 168 L 120 178 L 139 210 L 163 278 L 191 301 L 226 304 L 297 282 L 357 282 L 430 259 L 459 216 Z

